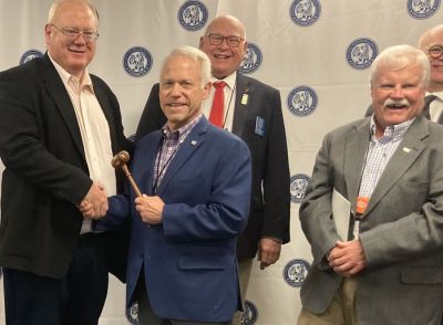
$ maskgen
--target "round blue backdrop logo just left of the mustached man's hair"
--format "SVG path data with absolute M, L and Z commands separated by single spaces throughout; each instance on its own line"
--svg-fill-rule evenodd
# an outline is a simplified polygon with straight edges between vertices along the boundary
M 371 39 L 361 38 L 354 40 L 347 50 L 347 61 L 356 70 L 363 70 L 371 66 L 379 49 Z

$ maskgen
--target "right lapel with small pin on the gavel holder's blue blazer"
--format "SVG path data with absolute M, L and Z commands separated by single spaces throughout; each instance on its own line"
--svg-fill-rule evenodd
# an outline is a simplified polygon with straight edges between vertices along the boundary
M 171 180 L 177 175 L 186 160 L 195 153 L 195 150 L 205 140 L 204 135 L 207 132 L 208 120 L 206 117 L 202 117 L 200 122 L 194 127 L 188 134 L 186 139 L 181 145 L 179 149 L 175 154 L 171 165 L 167 167 L 165 176 L 162 179 L 162 184 L 157 190 L 158 196 L 162 196 L 171 182 Z

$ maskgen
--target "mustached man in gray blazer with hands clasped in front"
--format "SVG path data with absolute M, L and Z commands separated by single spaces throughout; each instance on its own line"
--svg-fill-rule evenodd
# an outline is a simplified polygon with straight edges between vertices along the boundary
M 313 262 L 298 324 L 440 324 L 443 127 L 421 115 L 426 55 L 392 46 L 371 72 L 374 115 L 329 133 L 300 221 Z M 350 203 L 340 239 L 333 190 Z

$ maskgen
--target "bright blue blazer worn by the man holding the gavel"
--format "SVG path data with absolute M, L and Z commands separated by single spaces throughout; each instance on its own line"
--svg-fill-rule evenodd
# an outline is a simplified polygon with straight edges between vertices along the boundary
M 153 166 L 161 132 L 143 137 L 132 166 L 141 191 L 153 196 Z M 134 192 L 110 198 L 100 227 L 131 214 L 126 303 L 144 275 L 153 311 L 162 318 L 225 322 L 240 307 L 236 239 L 247 223 L 250 154 L 237 136 L 198 122 L 179 147 L 157 190 L 163 224 L 144 223 Z

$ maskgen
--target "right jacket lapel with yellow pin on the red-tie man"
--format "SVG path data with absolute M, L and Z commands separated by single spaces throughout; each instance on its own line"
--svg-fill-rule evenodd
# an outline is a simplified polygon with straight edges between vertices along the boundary
M 241 104 L 241 99 L 245 95 L 251 96 L 254 95 L 254 90 L 250 87 L 248 78 L 243 76 L 237 72 L 236 78 L 236 102 L 234 107 L 234 120 L 233 120 L 233 133 L 239 137 L 241 137 L 245 120 L 248 116 L 249 112 L 249 103 L 250 99 L 246 102 L 246 104 Z

